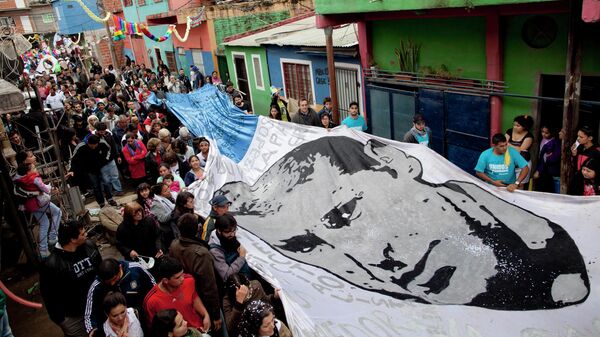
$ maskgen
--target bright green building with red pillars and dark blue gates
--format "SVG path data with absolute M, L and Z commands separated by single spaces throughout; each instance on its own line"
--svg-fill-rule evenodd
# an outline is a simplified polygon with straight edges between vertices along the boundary
M 469 172 L 489 136 L 518 115 L 534 118 L 534 133 L 541 124 L 562 126 L 570 18 L 581 27 L 579 124 L 599 128 L 600 26 L 575 8 L 547 0 L 315 0 L 320 27 L 358 24 L 371 132 L 402 139 L 421 113 L 433 148 Z

